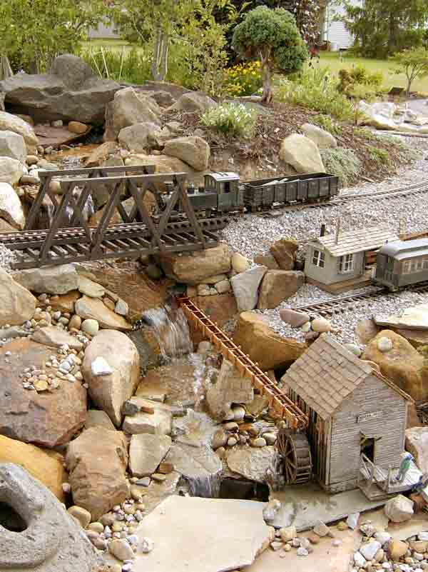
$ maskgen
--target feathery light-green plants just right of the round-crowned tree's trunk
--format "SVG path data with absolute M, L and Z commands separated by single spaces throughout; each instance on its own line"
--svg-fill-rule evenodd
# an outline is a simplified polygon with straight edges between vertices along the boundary
M 335 119 L 352 119 L 352 103 L 337 91 L 337 84 L 327 69 L 307 69 L 295 80 L 282 80 L 277 99 L 320 111 Z

